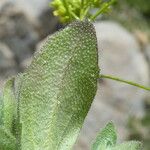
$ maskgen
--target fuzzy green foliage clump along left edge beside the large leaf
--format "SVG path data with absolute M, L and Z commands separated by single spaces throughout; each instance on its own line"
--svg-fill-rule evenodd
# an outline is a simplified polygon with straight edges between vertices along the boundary
M 3 97 L 0 97 L 0 149 L 16 150 L 16 139 L 13 135 L 13 122 L 16 116 L 14 97 L 14 78 L 4 86 Z

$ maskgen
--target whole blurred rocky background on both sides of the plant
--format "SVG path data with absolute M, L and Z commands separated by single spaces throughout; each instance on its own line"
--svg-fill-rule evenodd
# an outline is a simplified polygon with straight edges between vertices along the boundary
M 6 79 L 23 72 L 42 41 L 62 25 L 50 0 L 0 0 L 0 91 Z M 101 73 L 150 86 L 150 1 L 118 0 L 95 22 Z M 1 94 L 2 92 L 0 92 Z M 119 142 L 140 140 L 150 150 L 150 93 L 110 80 L 100 80 L 92 108 L 74 147 L 89 150 L 109 121 Z

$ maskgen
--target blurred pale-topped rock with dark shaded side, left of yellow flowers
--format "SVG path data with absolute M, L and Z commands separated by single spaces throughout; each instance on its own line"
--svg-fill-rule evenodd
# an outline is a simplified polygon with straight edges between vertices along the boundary
M 40 37 L 44 38 L 57 29 L 58 20 L 49 7 L 51 0 L 14 0 L 19 10 L 33 23 Z

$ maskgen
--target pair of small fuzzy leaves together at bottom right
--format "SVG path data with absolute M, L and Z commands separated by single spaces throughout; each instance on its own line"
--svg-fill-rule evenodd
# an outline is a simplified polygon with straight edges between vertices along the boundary
M 92 150 L 141 150 L 140 142 L 130 141 L 116 144 L 117 135 L 113 123 L 108 123 L 98 134 L 93 143 Z

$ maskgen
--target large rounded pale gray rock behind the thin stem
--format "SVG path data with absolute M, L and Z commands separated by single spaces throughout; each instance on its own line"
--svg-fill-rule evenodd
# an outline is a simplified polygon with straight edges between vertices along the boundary
M 95 23 L 102 74 L 111 74 L 144 85 L 149 82 L 148 65 L 134 36 L 117 23 Z M 101 80 L 92 108 L 85 120 L 76 150 L 89 150 L 97 132 L 109 121 L 117 127 L 119 141 L 128 135 L 131 115 L 143 115 L 146 92 L 111 80 Z

